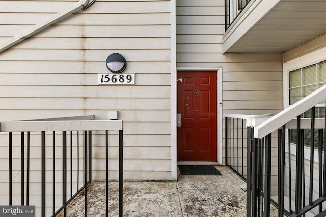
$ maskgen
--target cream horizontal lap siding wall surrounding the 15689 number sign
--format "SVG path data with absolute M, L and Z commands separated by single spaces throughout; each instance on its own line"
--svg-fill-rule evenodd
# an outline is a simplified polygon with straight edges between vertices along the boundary
M 5 1 L 0 9 L 0 42 L 76 2 Z M 171 180 L 170 16 L 170 1 L 97 0 L 87 10 L 4 51 L 0 54 L 0 120 L 79 115 L 107 119 L 108 110 L 117 110 L 124 120 L 125 179 Z M 97 84 L 98 73 L 109 72 L 106 57 L 116 52 L 126 58 L 124 73 L 135 74 L 135 85 Z M 37 136 L 33 135 L 32 146 L 36 152 Z M 58 132 L 58 142 L 61 136 Z M 0 137 L 8 140 L 8 135 Z M 117 179 L 117 132 L 110 133 L 110 138 L 110 178 Z M 17 141 L 14 149 L 19 153 Z M 51 170 L 51 135 L 46 141 L 47 169 Z M 0 145 L 4 165 L 8 165 L 7 146 Z M 105 179 L 104 147 L 103 132 L 94 132 L 95 180 Z M 60 149 L 58 144 L 58 161 Z M 40 153 L 32 158 L 38 161 Z M 17 166 L 20 160 L 15 161 Z

